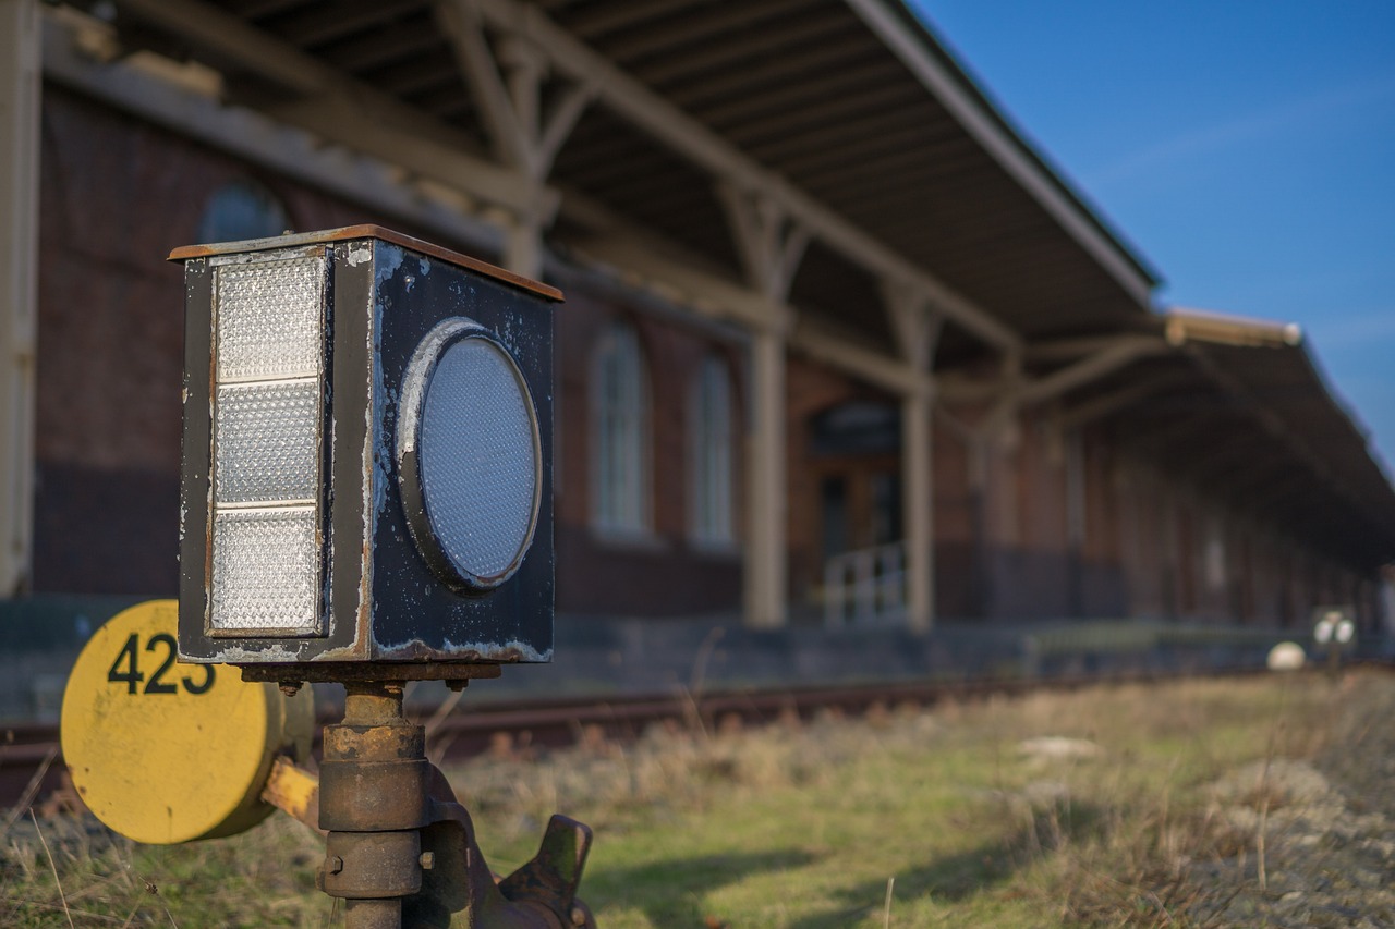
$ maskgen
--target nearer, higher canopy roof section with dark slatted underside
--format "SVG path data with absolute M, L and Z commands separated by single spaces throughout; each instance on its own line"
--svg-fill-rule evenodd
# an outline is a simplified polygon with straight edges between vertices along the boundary
M 123 39 L 213 66 L 233 102 L 312 123 L 304 109 L 319 98 L 328 110 L 331 82 L 391 103 L 379 131 L 483 159 L 499 141 L 442 22 L 473 11 L 499 57 L 516 53 L 505 32 L 525 33 L 550 56 L 545 102 L 561 105 L 569 85 L 601 85 L 547 179 L 564 194 L 554 240 L 585 243 L 610 225 L 597 220 L 605 211 L 739 279 L 720 186 L 764 186 L 802 206 L 792 222 L 815 226 L 790 301 L 882 343 L 882 314 L 866 311 L 880 250 L 1025 338 L 1136 325 L 1156 283 L 894 0 L 116 8 Z M 826 216 L 837 233 L 817 223 Z M 859 240 L 851 248 L 848 232 Z

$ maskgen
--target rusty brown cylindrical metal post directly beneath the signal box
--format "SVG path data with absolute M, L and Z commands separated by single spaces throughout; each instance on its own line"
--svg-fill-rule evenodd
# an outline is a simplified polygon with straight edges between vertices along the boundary
M 402 716 L 402 683 L 347 683 L 345 720 L 325 728 L 319 889 L 346 901 L 346 929 L 400 929 L 421 890 L 421 827 L 431 822 L 425 730 Z

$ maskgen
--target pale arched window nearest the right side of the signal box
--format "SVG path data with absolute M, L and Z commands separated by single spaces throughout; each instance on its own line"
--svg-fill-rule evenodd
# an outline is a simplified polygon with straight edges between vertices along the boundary
M 601 336 L 594 391 L 593 518 L 597 529 L 649 529 L 649 392 L 633 326 L 617 322 Z

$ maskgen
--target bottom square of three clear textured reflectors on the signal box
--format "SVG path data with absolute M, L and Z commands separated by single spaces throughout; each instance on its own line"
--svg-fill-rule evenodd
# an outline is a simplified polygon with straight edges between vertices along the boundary
M 318 582 L 314 506 L 213 516 L 213 629 L 318 629 Z

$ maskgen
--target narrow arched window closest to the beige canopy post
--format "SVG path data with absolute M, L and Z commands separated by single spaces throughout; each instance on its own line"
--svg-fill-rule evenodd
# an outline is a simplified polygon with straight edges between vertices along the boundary
M 689 400 L 692 485 L 689 531 L 698 543 L 731 544 L 731 372 L 716 357 L 703 358 Z

